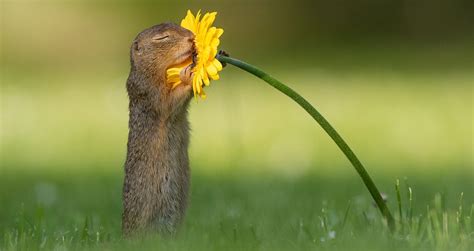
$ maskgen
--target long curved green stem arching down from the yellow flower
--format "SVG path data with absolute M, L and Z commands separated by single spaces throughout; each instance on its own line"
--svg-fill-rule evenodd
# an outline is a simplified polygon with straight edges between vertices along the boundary
M 341 151 L 346 155 L 346 157 L 349 159 L 349 161 L 352 163 L 352 165 L 356 169 L 359 176 L 362 178 L 362 181 L 364 182 L 365 186 L 367 187 L 370 194 L 372 195 L 372 198 L 374 198 L 375 203 L 377 204 L 380 212 L 387 220 L 387 224 L 390 230 L 395 229 L 395 221 L 393 219 L 393 216 L 390 213 L 390 210 L 388 209 L 387 204 L 383 200 L 379 190 L 377 189 L 377 186 L 375 186 L 375 183 L 372 181 L 372 178 L 370 178 L 364 166 L 359 161 L 359 159 L 354 154 L 354 152 L 351 150 L 351 148 L 342 139 L 339 133 L 337 133 L 337 131 L 331 126 L 331 124 L 329 124 L 329 122 L 323 117 L 323 115 L 321 115 L 321 113 L 319 113 L 316 110 L 316 108 L 314 108 L 306 99 L 304 99 L 301 95 L 299 95 L 293 89 L 291 89 L 290 87 L 286 86 L 282 82 L 276 80 L 275 78 L 271 77 L 270 75 L 256 68 L 253 65 L 247 64 L 243 61 L 240 61 L 231 57 L 227 57 L 224 55 L 217 55 L 217 59 L 221 61 L 222 63 L 232 64 L 242 70 L 245 70 L 261 78 L 262 80 L 264 80 L 265 82 L 267 82 L 268 84 L 276 88 L 277 90 L 281 91 L 286 96 L 293 99 L 301 107 L 303 107 L 303 109 L 305 109 L 311 115 L 311 117 L 313 117 L 314 120 L 316 120 L 316 122 L 319 123 L 319 125 L 324 129 L 324 131 L 326 131 L 326 133 L 329 134 L 329 136 L 337 144 L 339 149 L 341 149 Z

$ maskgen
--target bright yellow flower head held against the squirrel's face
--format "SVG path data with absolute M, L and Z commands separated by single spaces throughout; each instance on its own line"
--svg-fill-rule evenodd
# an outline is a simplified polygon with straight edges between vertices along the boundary
M 210 80 L 218 80 L 218 72 L 222 70 L 222 64 L 216 59 L 217 46 L 219 46 L 219 37 L 224 33 L 221 28 L 212 26 L 216 19 L 217 12 L 206 13 L 201 19 L 201 11 L 194 16 L 188 10 L 186 17 L 181 21 L 181 26 L 194 33 L 194 44 L 196 49 L 196 59 L 194 60 L 193 72 L 193 92 L 196 97 L 206 98 L 203 86 L 208 86 Z M 172 88 L 181 84 L 179 73 L 191 63 L 186 62 L 183 65 L 175 66 L 166 71 L 167 82 Z

